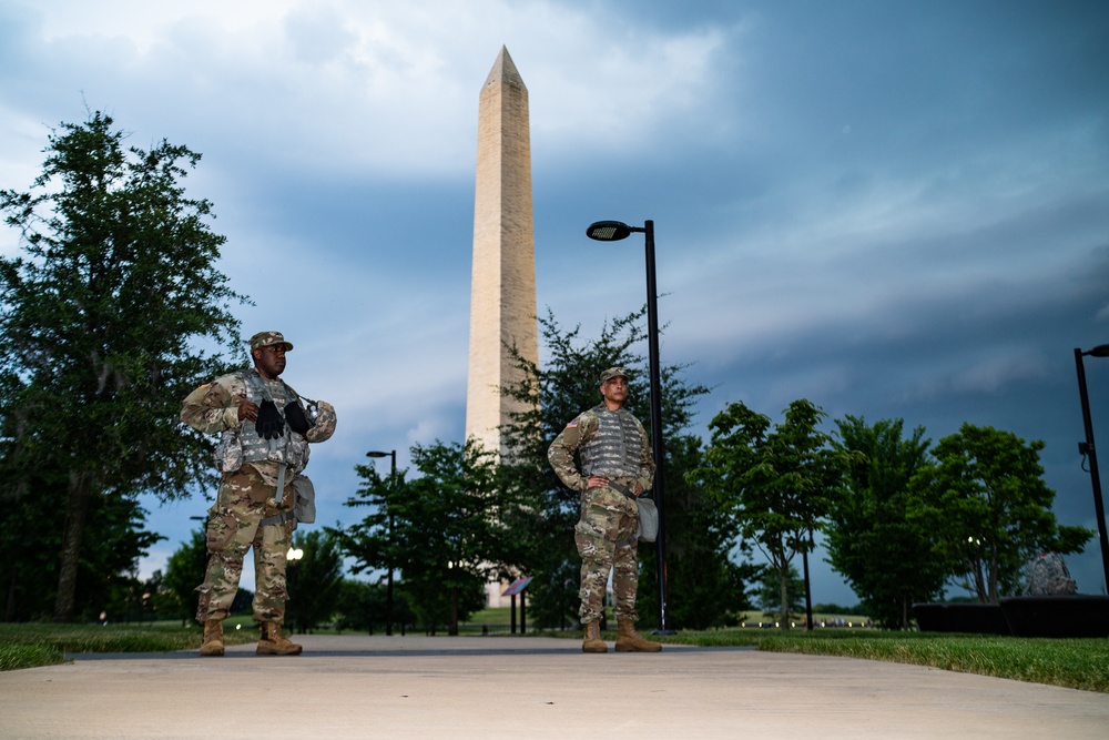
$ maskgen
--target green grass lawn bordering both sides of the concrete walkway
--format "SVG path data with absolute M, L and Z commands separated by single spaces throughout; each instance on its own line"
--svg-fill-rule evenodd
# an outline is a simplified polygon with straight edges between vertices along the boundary
M 475 615 L 459 631 L 462 635 L 480 635 L 482 626 L 488 626 L 490 639 L 498 639 L 498 635 L 507 635 L 510 619 L 508 609 L 488 610 Z M 820 621 L 814 619 L 814 624 Z M 257 639 L 254 620 L 250 617 L 228 619 L 224 628 L 230 645 Z M 450 639 L 440 633 L 442 639 Z M 581 638 L 577 630 L 536 632 L 529 627 L 528 633 Z M 614 640 L 615 633 L 609 631 L 604 637 Z M 1106 639 L 893 632 L 859 628 L 815 629 L 812 632 L 793 629 L 783 632 L 757 627 L 683 630 L 652 639 L 673 645 L 750 646 L 772 652 L 887 660 L 1109 693 L 1109 640 Z M 0 624 L 0 670 L 60 663 L 65 660 L 64 653 L 195 650 L 200 648 L 200 627 L 190 625 L 182 628 L 180 621 L 143 626 Z

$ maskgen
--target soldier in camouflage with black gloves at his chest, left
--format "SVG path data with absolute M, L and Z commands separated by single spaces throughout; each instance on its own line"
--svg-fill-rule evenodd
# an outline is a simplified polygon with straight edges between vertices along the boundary
M 335 432 L 335 408 L 305 401 L 279 379 L 293 345 L 281 332 L 251 337 L 254 367 L 224 375 L 193 391 L 182 402 L 181 419 L 199 432 L 220 434 L 215 462 L 222 473 L 215 504 L 208 509 L 208 550 L 196 620 L 204 625 L 202 656 L 222 656 L 223 620 L 238 590 L 243 558 L 254 548 L 254 618 L 261 624 L 258 655 L 299 655 L 301 646 L 282 636 L 285 617 L 285 554 L 293 541 L 297 511 L 314 501 L 301 473 L 308 443 Z M 294 486 L 294 479 L 301 477 Z M 282 488 L 277 495 L 278 486 Z M 298 506 L 298 504 L 301 506 Z M 302 514 L 302 520 L 311 521 Z

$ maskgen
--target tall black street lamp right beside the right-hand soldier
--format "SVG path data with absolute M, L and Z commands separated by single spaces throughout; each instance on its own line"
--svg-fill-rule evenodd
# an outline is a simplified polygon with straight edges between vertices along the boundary
M 659 509 L 659 536 L 654 540 L 659 560 L 659 630 L 669 633 L 667 625 L 667 517 L 663 514 L 662 383 L 659 372 L 659 291 L 654 282 L 654 222 L 642 227 L 620 221 L 598 221 L 589 225 L 586 235 L 598 242 L 619 242 L 631 234 L 647 237 L 647 341 L 651 373 L 651 439 L 654 443 L 654 505 Z

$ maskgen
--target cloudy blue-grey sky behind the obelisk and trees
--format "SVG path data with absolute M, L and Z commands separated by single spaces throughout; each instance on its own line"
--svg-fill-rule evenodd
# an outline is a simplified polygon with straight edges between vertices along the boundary
M 584 229 L 651 219 L 663 362 L 713 388 L 695 433 L 795 398 L 934 442 L 995 426 L 1047 443 L 1059 520 L 1096 528 L 1072 351 L 1109 343 L 1103 3 L 9 0 L 0 21 L 0 187 L 89 110 L 203 154 L 185 184 L 256 303 L 244 336 L 283 331 L 285 379 L 338 409 L 316 526 L 357 518 L 367 450 L 407 467 L 461 439 L 478 94 L 503 44 L 540 313 L 591 335 L 640 307 L 638 235 Z M 1105 438 L 1109 362 L 1086 371 Z M 207 503 L 146 506 L 169 539 L 144 575 Z M 811 565 L 814 600 L 854 604 Z M 1103 592 L 1097 540 L 1068 565 Z

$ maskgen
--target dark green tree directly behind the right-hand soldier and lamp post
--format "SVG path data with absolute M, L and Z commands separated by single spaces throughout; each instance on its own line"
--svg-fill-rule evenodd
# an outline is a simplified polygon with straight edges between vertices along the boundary
M 650 428 L 649 373 L 635 352 L 645 342 L 645 308 L 606 322 L 594 338 L 581 336 L 581 327 L 563 330 L 548 311 L 539 320 L 546 363 L 542 367 L 513 353 L 522 379 L 505 388 L 523 402 L 526 410 L 513 414 L 501 428 L 509 455 L 502 475 L 528 503 L 512 521 L 520 546 L 519 565 L 532 576 L 528 587 L 528 615 L 539 627 L 560 628 L 578 619 L 581 559 L 573 544 L 573 527 L 580 516 L 580 496 L 567 489 L 547 459 L 551 440 L 567 423 L 600 403 L 598 376 L 607 367 L 628 371 L 630 395 L 625 407 Z M 665 442 L 668 622 L 673 626 L 711 626 L 725 620 L 729 611 L 744 605 L 746 567 L 732 562 L 739 551 L 726 513 L 696 487 L 684 473 L 700 455 L 699 440 L 688 429 L 694 405 L 709 389 L 690 385 L 685 366 L 661 368 L 662 423 Z M 657 550 L 639 549 L 638 607 L 645 618 L 659 614 Z

